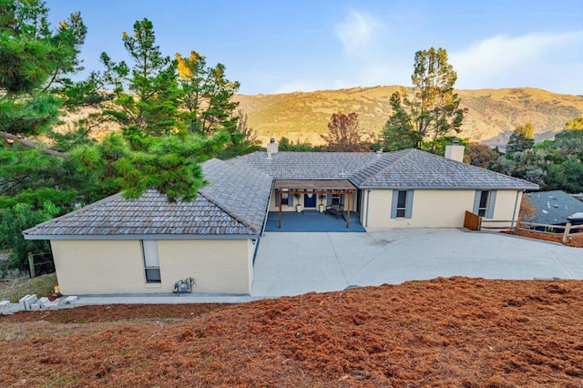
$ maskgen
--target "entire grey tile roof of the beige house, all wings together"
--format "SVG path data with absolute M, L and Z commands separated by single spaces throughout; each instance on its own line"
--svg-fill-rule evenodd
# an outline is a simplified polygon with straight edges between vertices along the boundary
M 390 153 L 255 152 L 202 164 L 208 186 L 192 202 L 156 191 L 114 195 L 25 230 L 25 238 L 179 239 L 260 235 L 273 179 L 348 179 L 359 189 L 538 189 L 522 179 L 416 149 Z

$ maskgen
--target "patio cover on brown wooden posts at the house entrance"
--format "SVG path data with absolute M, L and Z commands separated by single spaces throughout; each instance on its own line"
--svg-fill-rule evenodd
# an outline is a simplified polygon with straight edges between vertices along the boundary
M 337 204 L 331 203 L 332 207 L 335 207 L 336 215 L 342 215 L 343 219 L 346 220 L 346 229 L 350 229 L 351 222 L 351 208 L 352 208 L 352 198 L 356 188 L 347 179 L 276 179 L 273 188 L 275 189 L 275 195 L 277 198 L 278 208 L 278 229 L 281 230 L 281 221 L 283 218 L 283 212 L 281 209 L 282 204 L 282 193 L 285 192 L 287 195 L 302 195 L 307 194 L 310 196 L 333 196 L 334 194 L 341 196 L 346 200 L 346 204 L 342 201 Z M 315 197 L 314 197 L 315 199 Z M 328 211 L 328 206 L 326 212 Z M 302 215 L 305 211 L 302 211 Z M 323 215 L 323 214 L 322 214 Z M 271 214 L 270 214 L 271 217 Z M 289 220 L 295 220 L 295 218 L 288 216 Z M 300 219 L 301 220 L 301 219 Z M 269 219 L 268 219 L 269 223 Z M 362 226 L 361 226 L 362 227 Z

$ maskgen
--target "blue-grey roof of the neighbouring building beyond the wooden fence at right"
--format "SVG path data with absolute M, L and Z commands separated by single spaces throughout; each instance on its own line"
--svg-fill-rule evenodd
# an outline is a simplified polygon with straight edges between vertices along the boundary
M 541 224 L 564 224 L 568 217 L 583 212 L 583 202 L 564 191 L 541 191 L 528 193 L 528 202 L 537 208 L 536 217 L 527 219 Z M 577 218 L 577 217 L 575 217 Z

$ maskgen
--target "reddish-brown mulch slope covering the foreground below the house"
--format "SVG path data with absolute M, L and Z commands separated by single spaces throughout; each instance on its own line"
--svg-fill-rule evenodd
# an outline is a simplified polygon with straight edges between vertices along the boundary
M 456 277 L 199 310 L 28 312 L 0 317 L 0 381 L 576 387 L 583 385 L 581 311 L 581 281 Z

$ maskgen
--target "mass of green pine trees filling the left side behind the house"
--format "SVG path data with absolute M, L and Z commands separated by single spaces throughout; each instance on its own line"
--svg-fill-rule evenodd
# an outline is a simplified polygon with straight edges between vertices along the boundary
M 103 71 L 74 82 L 87 28 L 79 13 L 56 28 L 47 16 L 41 0 L 0 0 L 0 249 L 46 250 L 20 232 L 118 191 L 194 199 L 206 183 L 201 161 L 225 147 L 256 147 L 246 120 L 238 126 L 230 97 L 239 83 L 226 79 L 225 66 L 207 67 L 194 52 L 188 60 L 163 56 L 143 19 L 121 36 L 128 63 L 104 53 Z M 56 130 L 81 107 L 91 113 Z M 111 120 L 121 131 L 101 132 Z M 17 230 L 15 217 L 23 220 Z

